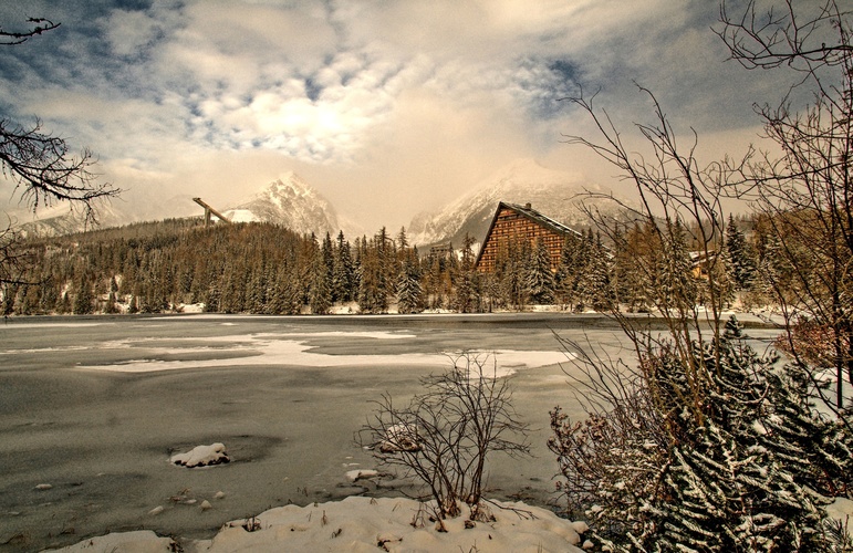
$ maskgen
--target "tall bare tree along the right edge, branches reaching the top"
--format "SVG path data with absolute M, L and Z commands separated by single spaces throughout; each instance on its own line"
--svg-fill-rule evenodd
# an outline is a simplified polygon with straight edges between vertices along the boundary
M 803 366 L 834 373 L 844 406 L 844 373 L 853 383 L 853 44 L 851 12 L 835 0 L 759 13 L 750 2 L 739 15 L 726 3 L 717 34 L 748 70 L 793 70 L 795 79 L 776 106 L 756 105 L 767 138 L 781 155 L 750 152 L 729 187 L 762 215 L 774 248 L 763 275 L 787 322 L 786 349 Z M 799 88 L 811 102 L 798 109 Z M 803 332 L 808 326 L 808 332 Z M 809 355 L 820 336 L 824 353 Z M 814 364 L 815 358 L 822 359 Z M 831 359 L 830 362 L 828 362 Z

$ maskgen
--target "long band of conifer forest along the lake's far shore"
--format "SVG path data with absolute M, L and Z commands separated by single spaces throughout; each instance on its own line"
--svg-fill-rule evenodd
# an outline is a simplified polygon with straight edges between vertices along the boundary
M 772 254 L 764 239 L 747 241 L 735 221 L 720 243 L 727 293 L 760 300 L 758 267 Z M 351 242 L 343 233 L 298 234 L 271 223 L 204 227 L 198 220 L 136 223 L 25 243 L 25 279 L 2 284 L 4 314 L 159 313 L 204 304 L 208 312 L 326 314 L 335 305 L 361 313 L 427 310 L 460 313 L 524 310 L 553 304 L 568 310 L 645 311 L 680 286 L 701 303 L 708 280 L 691 259 L 691 236 L 675 229 L 657 243 L 653 229 L 635 225 L 617 241 L 592 230 L 565 238 L 552 267 L 545 244 L 508 242 L 496 271 L 476 270 L 475 240 L 459 249 L 422 254 L 406 230 L 385 228 Z M 756 234 L 758 236 L 758 234 Z M 759 236 L 760 238 L 760 236 Z M 720 279 L 717 279 L 719 281 Z M 355 304 L 355 305 L 353 305 Z

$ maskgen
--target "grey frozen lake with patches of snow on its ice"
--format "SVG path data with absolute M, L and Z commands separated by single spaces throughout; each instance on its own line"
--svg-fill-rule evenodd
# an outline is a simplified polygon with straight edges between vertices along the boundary
M 345 474 L 376 468 L 353 442 L 371 401 L 407 400 L 464 349 L 496 353 L 533 427 L 535 457 L 496 455 L 487 494 L 544 505 L 556 471 L 548 411 L 582 415 L 554 332 L 611 353 L 624 341 L 599 315 L 10 320 L 0 325 L 0 551 L 138 529 L 210 536 L 270 507 L 365 492 Z M 169 463 L 214 442 L 230 463 Z M 214 508 L 199 509 L 204 500 Z

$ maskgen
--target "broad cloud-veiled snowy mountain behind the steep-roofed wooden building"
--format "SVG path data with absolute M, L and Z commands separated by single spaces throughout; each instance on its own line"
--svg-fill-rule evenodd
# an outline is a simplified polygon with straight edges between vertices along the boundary
M 465 234 L 481 241 L 489 230 L 498 202 L 531 204 L 537 211 L 569 227 L 590 226 L 580 206 L 579 195 L 585 190 L 610 194 L 574 173 L 543 167 L 532 159 L 519 159 L 501 168 L 474 189 L 438 212 L 419 213 L 408 228 L 409 241 L 419 247 L 452 242 L 460 246 Z M 586 204 L 591 204 L 587 199 Z M 615 215 L 612 200 L 595 200 L 602 212 Z

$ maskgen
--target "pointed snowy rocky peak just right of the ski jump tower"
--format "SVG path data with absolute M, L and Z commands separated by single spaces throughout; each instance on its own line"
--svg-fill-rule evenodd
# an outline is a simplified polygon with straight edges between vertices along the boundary
M 289 173 L 222 215 L 235 222 L 264 221 L 299 233 L 332 236 L 341 230 L 332 205 L 294 173 Z

